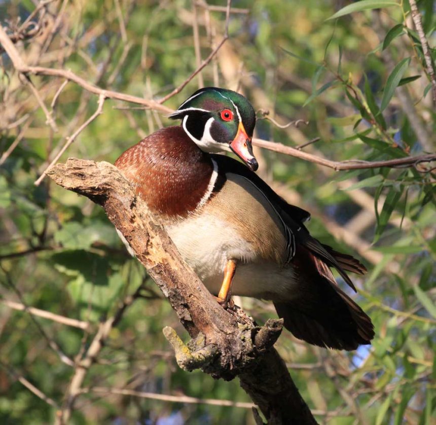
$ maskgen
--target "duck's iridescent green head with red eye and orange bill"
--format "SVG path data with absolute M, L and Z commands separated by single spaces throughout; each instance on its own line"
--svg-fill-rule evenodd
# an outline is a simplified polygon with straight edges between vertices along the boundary
M 171 119 L 181 119 L 186 134 L 205 152 L 232 151 L 252 171 L 258 169 L 251 138 L 256 113 L 239 93 L 216 87 L 197 90 Z

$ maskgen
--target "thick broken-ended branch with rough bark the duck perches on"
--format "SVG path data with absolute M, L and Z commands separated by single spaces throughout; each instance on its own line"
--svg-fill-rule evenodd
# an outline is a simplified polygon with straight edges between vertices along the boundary
M 238 376 L 268 423 L 316 423 L 273 347 L 282 322 L 270 320 L 259 328 L 241 310 L 224 310 L 181 259 L 165 230 L 115 166 L 69 159 L 51 168 L 48 175 L 63 188 L 104 208 L 168 298 L 193 338 L 185 345 L 171 328 L 164 329 L 181 367 L 201 368 L 226 380 Z

